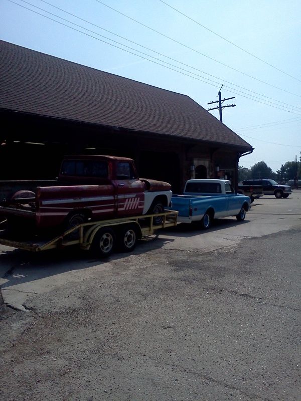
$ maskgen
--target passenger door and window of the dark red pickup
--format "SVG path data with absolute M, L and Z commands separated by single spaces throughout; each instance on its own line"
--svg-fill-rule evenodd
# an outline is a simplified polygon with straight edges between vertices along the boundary
M 130 161 L 118 161 L 116 163 L 116 179 L 113 183 L 117 188 L 117 216 L 141 215 L 144 206 L 145 186 L 137 177 Z

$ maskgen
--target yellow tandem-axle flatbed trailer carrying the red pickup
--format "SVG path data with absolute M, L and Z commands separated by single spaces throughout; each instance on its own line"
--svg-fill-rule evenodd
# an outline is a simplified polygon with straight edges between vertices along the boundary
M 159 216 L 162 216 L 162 222 L 155 225 L 154 218 L 158 219 Z M 138 239 L 153 235 L 160 229 L 176 226 L 177 217 L 177 211 L 165 211 L 155 215 L 88 222 L 48 238 L 36 234 L 23 239 L 3 230 L 0 231 L 0 244 L 32 252 L 78 245 L 81 249 L 93 250 L 99 256 L 106 257 L 116 247 L 123 252 L 132 251 Z

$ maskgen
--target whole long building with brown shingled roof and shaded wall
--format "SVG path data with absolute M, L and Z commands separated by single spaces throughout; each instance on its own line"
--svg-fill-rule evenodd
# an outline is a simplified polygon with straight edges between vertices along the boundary
M 253 148 L 188 96 L 0 41 L 0 180 L 53 179 L 65 154 L 131 157 L 180 192 L 238 182 Z

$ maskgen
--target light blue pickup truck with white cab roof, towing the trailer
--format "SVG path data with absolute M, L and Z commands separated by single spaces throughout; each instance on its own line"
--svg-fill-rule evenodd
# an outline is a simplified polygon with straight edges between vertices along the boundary
M 184 192 L 172 196 L 172 207 L 178 211 L 178 222 L 200 222 L 208 229 L 213 219 L 235 216 L 243 221 L 250 209 L 251 198 L 233 189 L 226 179 L 189 179 Z

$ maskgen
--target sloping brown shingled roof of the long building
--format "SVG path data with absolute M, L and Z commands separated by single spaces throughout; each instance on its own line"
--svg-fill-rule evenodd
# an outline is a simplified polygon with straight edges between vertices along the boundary
M 252 146 L 186 95 L 0 41 L 0 109 Z

